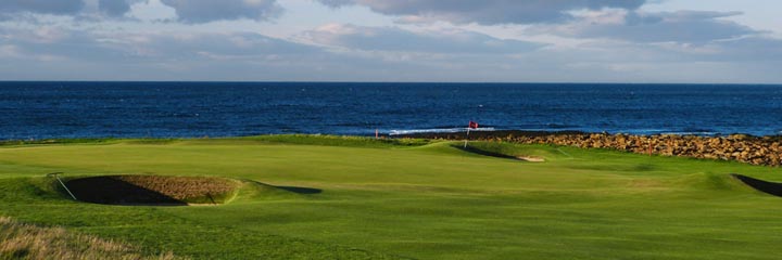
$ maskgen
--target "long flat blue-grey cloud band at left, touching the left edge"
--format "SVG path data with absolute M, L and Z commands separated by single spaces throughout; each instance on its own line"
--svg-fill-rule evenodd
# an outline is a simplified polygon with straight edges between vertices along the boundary
M 307 55 L 314 47 L 253 32 L 90 32 L 62 27 L 0 28 L 7 57 L 49 57 L 73 62 L 154 63 L 258 60 Z

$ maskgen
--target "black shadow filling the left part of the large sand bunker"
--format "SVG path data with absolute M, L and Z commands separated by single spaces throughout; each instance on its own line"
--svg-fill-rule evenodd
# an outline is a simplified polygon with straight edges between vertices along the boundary
M 78 200 L 109 205 L 187 206 L 179 199 L 112 177 L 71 180 L 67 187 Z

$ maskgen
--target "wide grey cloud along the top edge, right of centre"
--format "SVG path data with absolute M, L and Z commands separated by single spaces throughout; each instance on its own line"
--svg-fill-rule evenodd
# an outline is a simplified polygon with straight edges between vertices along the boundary
M 370 10 L 402 16 L 402 21 L 446 21 L 456 24 L 477 23 L 533 24 L 554 23 L 571 17 L 569 11 L 616 8 L 634 10 L 645 0 L 318 0 L 339 8 L 363 5 Z

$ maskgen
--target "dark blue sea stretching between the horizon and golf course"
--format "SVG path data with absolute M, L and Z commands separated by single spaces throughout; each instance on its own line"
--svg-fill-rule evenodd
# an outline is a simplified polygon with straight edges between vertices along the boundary
M 0 140 L 491 130 L 782 133 L 782 86 L 0 82 Z

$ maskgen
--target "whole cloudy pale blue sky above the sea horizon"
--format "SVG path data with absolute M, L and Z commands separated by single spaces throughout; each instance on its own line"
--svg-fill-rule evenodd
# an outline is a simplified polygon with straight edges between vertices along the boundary
M 0 80 L 782 83 L 778 0 L 2 0 Z

